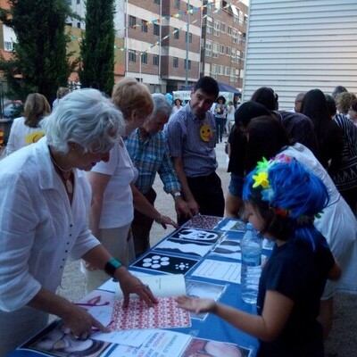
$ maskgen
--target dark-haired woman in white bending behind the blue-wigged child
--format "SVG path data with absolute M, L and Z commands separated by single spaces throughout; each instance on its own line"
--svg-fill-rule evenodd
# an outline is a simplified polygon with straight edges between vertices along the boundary
M 325 336 L 332 326 L 333 295 L 337 291 L 357 292 L 355 271 L 357 270 L 357 221 L 344 198 L 339 194 L 328 172 L 311 151 L 302 144 L 292 144 L 285 129 L 269 116 L 255 118 L 246 127 L 249 137 L 246 147 L 246 170 L 252 170 L 257 160 L 270 159 L 285 154 L 302 162 L 322 179 L 328 188 L 329 202 L 314 225 L 326 237 L 337 262 L 341 264 L 342 277 L 338 281 L 328 280 L 322 295 L 320 321 Z M 269 133 L 269 135 L 267 135 Z

